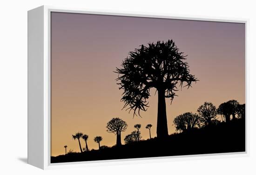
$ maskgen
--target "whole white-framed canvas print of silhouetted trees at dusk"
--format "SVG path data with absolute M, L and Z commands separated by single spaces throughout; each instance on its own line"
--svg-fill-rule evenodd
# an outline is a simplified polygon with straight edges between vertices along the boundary
M 247 154 L 246 27 L 28 11 L 28 163 Z

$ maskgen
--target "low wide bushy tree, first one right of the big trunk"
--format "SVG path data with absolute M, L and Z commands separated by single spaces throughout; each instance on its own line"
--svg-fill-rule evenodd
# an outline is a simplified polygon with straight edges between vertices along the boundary
M 196 127 L 200 127 L 200 117 L 198 114 L 192 112 L 186 112 L 182 115 L 175 117 L 173 123 L 175 124 L 176 130 L 182 132 L 193 130 Z

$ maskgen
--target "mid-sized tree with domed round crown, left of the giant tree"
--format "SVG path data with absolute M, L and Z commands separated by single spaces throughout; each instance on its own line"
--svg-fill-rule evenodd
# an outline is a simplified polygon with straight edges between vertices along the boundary
M 120 146 L 121 143 L 121 132 L 127 129 L 127 123 L 120 118 L 112 118 L 107 123 L 107 132 L 115 133 L 116 135 L 116 146 Z

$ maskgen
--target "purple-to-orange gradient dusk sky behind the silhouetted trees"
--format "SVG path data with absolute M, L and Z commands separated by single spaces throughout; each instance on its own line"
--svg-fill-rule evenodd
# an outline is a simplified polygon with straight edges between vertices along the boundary
M 153 125 L 156 136 L 157 94 L 151 90 L 149 108 L 134 117 L 121 110 L 122 90 L 115 82 L 115 67 L 139 45 L 173 39 L 188 55 L 190 73 L 200 80 L 193 88 L 178 91 L 173 103 L 166 99 L 169 134 L 175 132 L 173 119 L 184 112 L 196 112 L 205 101 L 219 104 L 236 99 L 245 103 L 245 25 L 180 19 L 154 19 L 79 13 L 51 14 L 51 155 L 67 150 L 79 151 L 72 134 L 89 136 L 89 149 L 98 149 L 93 141 L 102 136 L 101 145 L 112 146 L 116 136 L 106 132 L 113 117 L 128 123 L 122 143 L 141 123 Z M 81 141 L 82 146 L 85 143 Z

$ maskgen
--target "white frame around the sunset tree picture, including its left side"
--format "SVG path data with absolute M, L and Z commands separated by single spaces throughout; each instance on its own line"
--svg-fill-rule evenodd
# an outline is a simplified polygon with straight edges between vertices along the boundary
M 84 9 L 61 8 L 54 6 L 40 6 L 28 11 L 28 163 L 40 169 L 55 169 L 62 167 L 84 167 L 91 165 L 107 165 L 136 163 L 136 162 L 161 162 L 176 161 L 179 159 L 198 159 L 198 158 L 221 158 L 223 156 L 248 156 L 248 121 L 249 116 L 246 115 L 246 151 L 236 153 L 220 153 L 211 155 L 195 155 L 195 156 L 166 156 L 153 158 L 138 158 L 126 160 L 106 160 L 106 161 L 89 161 L 89 162 L 67 162 L 67 163 L 50 163 L 51 156 L 51 91 L 50 91 L 50 15 L 51 12 L 66 13 L 86 13 L 86 14 L 102 14 L 102 15 L 119 15 L 132 17 L 148 17 L 148 18 L 166 18 L 166 19 L 188 19 L 201 21 L 219 21 L 219 22 L 236 22 L 244 23 L 245 31 L 248 30 L 248 19 L 215 19 L 215 18 L 199 18 L 196 16 L 179 16 L 169 14 L 152 14 L 152 13 L 130 13 L 130 12 L 113 12 L 101 11 L 91 12 Z M 245 34 L 245 60 L 248 67 L 247 58 L 247 34 Z M 247 72 L 248 70 L 246 70 Z M 246 73 L 246 87 L 248 84 L 248 76 Z M 246 92 L 246 104 L 248 102 Z M 247 109 L 246 105 L 246 111 Z M 246 112 L 247 114 L 247 112 Z M 129 161 L 129 162 L 128 162 Z

